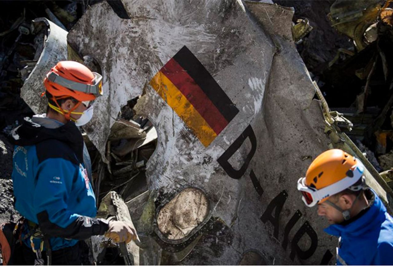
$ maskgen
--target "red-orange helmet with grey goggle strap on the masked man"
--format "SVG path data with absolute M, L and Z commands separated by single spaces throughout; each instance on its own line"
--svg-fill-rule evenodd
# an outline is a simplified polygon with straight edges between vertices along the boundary
M 102 76 L 81 63 L 60 61 L 46 74 L 44 86 L 55 98 L 70 96 L 80 102 L 91 101 L 102 95 Z

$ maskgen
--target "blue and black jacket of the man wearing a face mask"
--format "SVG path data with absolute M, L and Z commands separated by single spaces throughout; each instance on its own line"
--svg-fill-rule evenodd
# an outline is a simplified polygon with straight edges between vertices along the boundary
M 48 121 L 52 121 L 49 128 Z M 15 209 L 38 224 L 42 233 L 50 236 L 52 250 L 58 250 L 92 235 L 103 235 L 108 224 L 93 218 L 97 209 L 83 164 L 84 142 L 79 129 L 73 122 L 53 126 L 57 122 L 51 121 L 40 116 L 25 118 L 13 131 L 12 179 Z M 34 240 L 36 248 L 40 241 Z M 30 246 L 29 238 L 24 242 Z

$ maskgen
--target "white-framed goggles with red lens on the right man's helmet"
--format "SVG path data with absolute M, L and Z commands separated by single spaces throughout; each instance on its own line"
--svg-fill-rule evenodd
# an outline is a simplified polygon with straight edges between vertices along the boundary
M 363 176 L 364 165 L 356 159 L 357 163 L 353 168 L 348 170 L 347 176 L 345 176 L 340 181 L 333 183 L 327 187 L 316 189 L 308 187 L 305 184 L 306 178 L 301 177 L 298 180 L 298 190 L 301 192 L 301 199 L 307 207 L 313 207 L 321 200 L 326 199 L 338 192 L 343 191 L 346 188 L 350 188 L 354 183 L 356 183 Z M 352 175 L 352 176 L 351 176 Z

